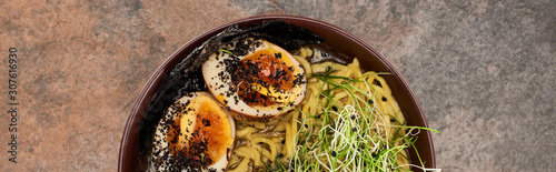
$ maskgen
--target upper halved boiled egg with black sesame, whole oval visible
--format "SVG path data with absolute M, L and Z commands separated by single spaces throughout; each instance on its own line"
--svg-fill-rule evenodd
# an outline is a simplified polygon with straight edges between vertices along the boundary
M 220 49 L 202 65 L 205 81 L 217 100 L 241 114 L 235 115 L 240 119 L 270 119 L 299 104 L 307 87 L 302 65 L 266 40 L 244 41 Z

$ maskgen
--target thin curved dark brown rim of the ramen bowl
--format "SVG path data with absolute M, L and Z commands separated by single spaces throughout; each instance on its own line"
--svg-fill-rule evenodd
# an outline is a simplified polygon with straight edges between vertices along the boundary
M 319 26 L 322 28 L 327 28 L 327 29 L 329 29 L 338 34 L 341 34 L 344 37 L 347 37 L 349 40 L 351 40 L 351 41 L 356 42 L 357 44 L 360 44 L 365 49 L 369 50 L 371 53 L 374 53 L 378 58 L 378 60 L 380 60 L 383 62 L 383 64 L 385 64 L 389 70 L 391 70 L 394 75 L 399 78 L 399 82 L 401 83 L 401 87 L 407 89 L 408 95 L 410 97 L 409 99 L 411 100 L 413 105 L 417 109 L 417 112 L 419 114 L 419 120 L 424 124 L 423 127 L 428 128 L 428 123 L 427 123 L 427 120 L 425 118 L 425 114 L 423 113 L 420 104 L 417 101 L 413 90 L 409 88 L 409 85 L 406 82 L 406 80 L 404 79 L 404 77 L 396 70 L 396 68 L 394 68 L 394 65 L 390 62 L 388 62 L 388 60 L 386 60 L 386 58 L 381 53 L 379 53 L 375 48 L 367 44 L 365 41 L 360 40 L 359 38 L 354 36 L 353 33 L 350 33 L 350 32 L 348 32 L 339 27 L 332 26 L 330 23 L 327 23 L 327 22 L 324 22 L 320 20 L 311 19 L 311 18 L 299 17 L 299 16 L 289 16 L 289 14 L 255 16 L 255 17 L 249 17 L 249 18 L 244 18 L 244 19 L 239 19 L 236 21 L 231 21 L 231 22 L 228 22 L 226 24 L 221 24 L 219 27 L 212 28 L 212 29 L 199 34 L 198 37 L 188 41 L 186 44 L 181 45 L 155 71 L 155 73 L 149 78 L 149 80 L 145 84 L 145 88 L 141 90 L 141 92 L 139 93 L 139 95 L 135 100 L 133 108 L 131 109 L 131 113 L 130 113 L 128 121 L 126 123 L 126 128 L 123 130 L 123 135 L 122 135 L 121 144 L 120 144 L 120 152 L 119 152 L 119 159 L 118 159 L 118 171 L 125 170 L 123 169 L 123 166 L 125 166 L 123 160 L 125 160 L 126 155 L 129 153 L 132 153 L 130 151 L 135 151 L 135 150 L 129 150 L 130 148 L 126 146 L 126 145 L 129 145 L 129 140 L 131 136 L 130 134 L 132 132 L 133 133 L 138 132 L 138 131 L 133 131 L 133 130 L 137 130 L 137 129 L 133 129 L 133 124 L 140 123 L 148 103 L 151 101 L 152 95 L 158 91 L 158 87 L 162 80 L 162 74 L 166 74 L 169 72 L 168 69 L 170 68 L 169 67 L 170 62 L 176 60 L 176 58 L 183 58 L 182 55 L 178 57 L 180 53 L 182 53 L 182 51 L 185 51 L 186 49 L 190 49 L 189 51 L 191 51 L 192 48 L 200 45 L 200 43 L 206 41 L 208 38 L 217 34 L 218 32 L 221 32 L 222 30 L 225 30 L 229 26 L 237 24 L 237 23 L 249 23 L 251 21 L 261 21 L 261 20 L 297 20 L 297 21 L 309 22 L 309 23 L 312 23 L 312 24 L 316 24 L 316 26 Z M 191 47 L 191 45 L 195 45 L 195 47 Z M 165 72 L 165 70 L 166 70 L 166 72 Z M 158 83 L 158 84 L 156 84 L 156 83 Z M 425 131 L 425 132 L 429 132 L 429 131 Z M 427 166 L 428 168 L 436 168 L 435 150 L 434 150 L 433 139 L 431 139 L 430 134 L 426 134 L 426 138 L 419 138 L 419 139 L 426 139 L 429 143 L 431 162 L 427 162 Z

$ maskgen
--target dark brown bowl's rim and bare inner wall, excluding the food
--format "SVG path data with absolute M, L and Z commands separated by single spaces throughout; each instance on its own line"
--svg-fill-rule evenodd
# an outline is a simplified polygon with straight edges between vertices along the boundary
M 393 90 L 391 92 L 396 101 L 398 102 L 404 117 L 407 120 L 407 124 L 428 128 L 419 103 L 417 102 L 417 99 L 415 98 L 413 91 L 409 89 L 404 78 L 378 51 L 376 51 L 373 47 L 368 45 L 360 39 L 338 27 L 315 19 L 295 16 L 251 17 L 217 27 L 200 34 L 199 37 L 182 45 L 173 54 L 171 54 L 165 61 L 165 63 L 162 63 L 151 75 L 141 93 L 137 98 L 128 119 L 121 140 L 118 164 L 119 171 L 137 171 L 138 166 L 140 166 L 141 161 L 145 161 L 141 160 L 141 154 L 139 153 L 141 143 L 140 130 L 143 125 L 143 114 L 153 95 L 159 90 L 161 84 L 163 84 L 165 77 L 169 74 L 171 69 L 173 69 L 176 64 L 179 63 L 190 51 L 199 47 L 207 39 L 221 32 L 229 26 L 249 26 L 259 23 L 264 20 L 284 20 L 288 23 L 292 23 L 301 28 L 307 28 L 315 34 L 325 39 L 324 44 L 329 48 L 328 51 L 342 54 L 345 57 L 357 57 L 360 61 L 361 68 L 365 71 L 380 71 L 391 73 L 388 75 L 384 75 L 384 78 L 390 85 L 390 89 Z M 346 60 L 351 61 L 350 59 Z M 425 168 L 436 168 L 430 132 L 421 131 L 417 136 L 418 140 L 416 141 L 415 146 L 419 152 L 419 156 L 423 160 Z M 411 158 L 411 162 L 418 162 L 418 158 L 414 155 L 414 149 L 409 149 L 409 154 Z M 413 170 L 419 171 L 418 169 Z

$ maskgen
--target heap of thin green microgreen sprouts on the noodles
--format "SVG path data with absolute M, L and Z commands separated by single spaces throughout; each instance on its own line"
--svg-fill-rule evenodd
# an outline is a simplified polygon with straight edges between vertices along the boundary
M 289 165 L 281 165 L 282 168 L 294 171 L 407 171 L 401 168 L 407 164 L 398 164 L 398 159 L 409 159 L 400 152 L 415 148 L 417 136 L 410 132 L 404 133 L 405 129 L 438 132 L 423 127 L 407 127 L 391 114 L 384 114 L 375 105 L 377 103 L 367 103 L 369 100 L 379 100 L 375 98 L 376 90 L 367 81 L 330 75 L 330 72 L 312 73 L 310 78 L 325 83 L 316 95 L 322 113 L 309 115 L 297 109 L 306 118 L 299 120 L 296 152 Z M 353 84 L 356 82 L 365 83 L 367 90 L 356 88 Z M 332 94 L 335 90 L 347 91 L 351 104 L 337 102 Z M 387 127 L 395 131 L 387 131 L 386 124 L 379 122 L 390 119 L 394 122 Z M 318 122 L 309 122 L 310 120 Z M 309 128 L 304 128 L 307 124 Z M 403 141 L 400 145 L 399 141 Z M 424 166 L 418 154 L 417 158 L 419 162 L 411 163 Z

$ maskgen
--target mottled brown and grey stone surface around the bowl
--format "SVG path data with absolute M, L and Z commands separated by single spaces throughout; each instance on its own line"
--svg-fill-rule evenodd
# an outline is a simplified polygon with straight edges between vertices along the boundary
M 0 1 L 0 133 L 8 49 L 18 49 L 18 163 L 0 171 L 116 171 L 150 74 L 197 34 L 244 17 L 297 14 L 360 37 L 420 101 L 444 171 L 556 169 L 556 3 L 522 1 Z

